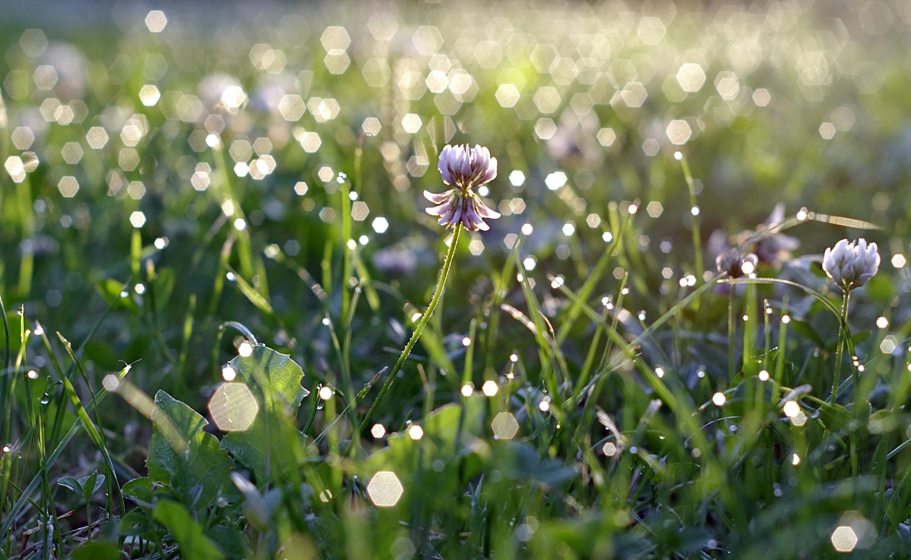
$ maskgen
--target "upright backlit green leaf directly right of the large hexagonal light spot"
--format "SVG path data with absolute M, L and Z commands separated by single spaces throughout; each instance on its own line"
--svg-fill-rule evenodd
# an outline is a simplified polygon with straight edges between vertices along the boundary
M 295 418 L 310 391 L 301 386 L 302 368 L 290 356 L 268 347 L 253 347 L 250 357 L 238 356 L 230 360 L 230 367 L 237 372 L 236 381 L 251 390 L 259 410 L 250 428 L 226 434 L 221 447 L 263 482 L 271 472 L 292 464 L 297 446 L 289 441 L 302 438 Z

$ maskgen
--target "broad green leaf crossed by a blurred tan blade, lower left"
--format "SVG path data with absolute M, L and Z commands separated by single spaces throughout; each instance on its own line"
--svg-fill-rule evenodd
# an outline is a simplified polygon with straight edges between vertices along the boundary
M 169 484 L 196 509 L 219 495 L 236 495 L 230 482 L 230 457 L 219 449 L 215 436 L 203 431 L 209 422 L 195 410 L 159 390 L 152 424 L 146 461 L 151 481 Z

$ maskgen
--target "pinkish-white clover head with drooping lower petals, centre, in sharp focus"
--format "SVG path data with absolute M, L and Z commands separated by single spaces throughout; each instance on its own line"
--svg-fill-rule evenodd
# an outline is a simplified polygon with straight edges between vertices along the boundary
M 490 157 L 490 150 L 478 145 L 474 148 L 467 144 L 447 145 L 440 152 L 436 167 L 443 182 L 455 185 L 455 189 L 441 193 L 425 191 L 425 198 L 436 204 L 427 208 L 426 213 L 439 216 L 437 223 L 447 228 L 462 223 L 472 232 L 489 230 L 484 219 L 499 218 L 500 213 L 487 208 L 473 189 L 496 178 L 496 158 Z

